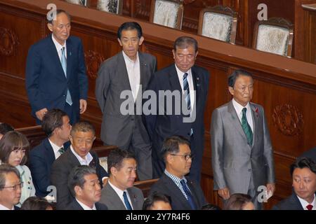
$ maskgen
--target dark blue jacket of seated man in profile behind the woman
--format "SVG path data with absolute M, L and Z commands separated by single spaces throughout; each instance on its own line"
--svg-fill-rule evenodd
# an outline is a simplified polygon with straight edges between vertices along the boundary
M 33 177 L 36 195 L 45 197 L 47 187 L 51 185 L 51 166 L 55 161 L 55 154 L 48 138 L 32 149 L 29 153 L 29 169 Z

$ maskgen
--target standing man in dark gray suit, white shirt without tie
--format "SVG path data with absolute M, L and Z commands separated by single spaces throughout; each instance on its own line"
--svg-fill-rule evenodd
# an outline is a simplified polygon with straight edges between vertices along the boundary
M 152 179 L 152 148 L 141 118 L 141 95 L 157 62 L 154 56 L 138 52 L 144 38 L 137 22 L 122 24 L 117 36 L 123 50 L 101 64 L 96 80 L 96 99 L 103 113 L 101 139 L 133 151 L 138 178 Z

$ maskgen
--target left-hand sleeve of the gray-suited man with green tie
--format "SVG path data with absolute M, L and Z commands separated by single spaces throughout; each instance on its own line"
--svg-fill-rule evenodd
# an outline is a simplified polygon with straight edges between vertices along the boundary
M 214 190 L 226 188 L 225 176 L 223 172 L 223 147 L 224 147 L 223 120 L 218 109 L 215 109 L 211 119 L 211 147 L 212 147 L 212 167 L 214 177 Z

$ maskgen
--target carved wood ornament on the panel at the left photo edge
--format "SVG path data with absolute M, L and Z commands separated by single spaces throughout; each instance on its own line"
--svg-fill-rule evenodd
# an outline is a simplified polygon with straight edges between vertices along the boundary
M 0 27 L 0 55 L 15 55 L 18 44 L 18 36 L 13 30 Z

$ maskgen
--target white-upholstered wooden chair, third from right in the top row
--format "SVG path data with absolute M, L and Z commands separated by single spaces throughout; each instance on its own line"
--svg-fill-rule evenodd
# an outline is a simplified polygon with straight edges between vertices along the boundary
M 150 10 L 150 22 L 181 29 L 183 18 L 182 1 L 153 0 Z

